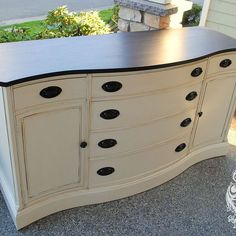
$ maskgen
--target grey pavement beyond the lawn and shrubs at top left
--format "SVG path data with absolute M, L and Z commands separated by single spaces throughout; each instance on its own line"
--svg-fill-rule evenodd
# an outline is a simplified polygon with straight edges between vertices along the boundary
M 49 10 L 67 5 L 71 11 L 101 9 L 113 0 L 0 0 L 0 23 L 47 15 Z

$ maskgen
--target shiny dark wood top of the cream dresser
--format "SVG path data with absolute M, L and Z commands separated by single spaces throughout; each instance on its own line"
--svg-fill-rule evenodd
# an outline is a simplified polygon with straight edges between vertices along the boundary
M 148 70 L 236 51 L 236 40 L 204 28 L 0 44 L 0 86 L 62 74 Z

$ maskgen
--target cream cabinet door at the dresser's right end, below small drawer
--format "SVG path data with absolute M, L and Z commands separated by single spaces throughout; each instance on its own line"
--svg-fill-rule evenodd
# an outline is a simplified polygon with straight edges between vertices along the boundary
M 235 78 L 218 78 L 206 84 L 202 103 L 202 116 L 198 120 L 194 146 L 222 142 L 224 131 L 231 117 L 231 105 L 234 99 Z

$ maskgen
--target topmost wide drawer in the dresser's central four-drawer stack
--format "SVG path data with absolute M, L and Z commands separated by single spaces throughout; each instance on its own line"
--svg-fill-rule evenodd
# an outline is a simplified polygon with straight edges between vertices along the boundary
M 93 75 L 92 97 L 131 95 L 172 88 L 185 83 L 201 81 L 207 61 L 169 69 L 140 71 L 123 74 Z M 107 91 L 106 91 L 107 90 Z

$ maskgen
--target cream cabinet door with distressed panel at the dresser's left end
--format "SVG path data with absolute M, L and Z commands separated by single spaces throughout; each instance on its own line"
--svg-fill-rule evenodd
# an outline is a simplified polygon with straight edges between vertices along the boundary
M 82 184 L 82 106 L 35 112 L 20 119 L 27 196 Z

